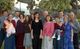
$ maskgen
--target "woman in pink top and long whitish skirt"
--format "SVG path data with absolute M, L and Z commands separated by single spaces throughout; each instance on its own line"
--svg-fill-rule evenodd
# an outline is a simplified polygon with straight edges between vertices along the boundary
M 54 23 L 51 21 L 51 16 L 46 16 L 46 22 L 43 26 L 43 45 L 42 49 L 53 49 L 53 39 L 52 35 L 54 32 Z

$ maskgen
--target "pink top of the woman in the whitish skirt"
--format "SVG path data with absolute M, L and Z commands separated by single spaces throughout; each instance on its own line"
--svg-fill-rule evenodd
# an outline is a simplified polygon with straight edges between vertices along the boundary
M 46 22 L 43 26 L 43 36 L 52 37 L 53 33 L 54 33 L 54 23 Z

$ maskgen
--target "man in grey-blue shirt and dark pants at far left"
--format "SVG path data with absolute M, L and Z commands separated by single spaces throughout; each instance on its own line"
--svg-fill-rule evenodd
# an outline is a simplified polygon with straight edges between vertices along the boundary
M 3 25 L 4 25 L 4 20 L 7 19 L 7 16 L 8 16 L 8 12 L 4 11 L 3 16 L 0 17 L 0 48 L 5 38 L 5 30 Z

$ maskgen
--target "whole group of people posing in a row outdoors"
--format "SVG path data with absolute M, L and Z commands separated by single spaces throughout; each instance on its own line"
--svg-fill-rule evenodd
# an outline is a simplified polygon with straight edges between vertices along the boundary
M 0 48 L 4 49 L 79 49 L 80 24 L 73 12 L 59 11 L 52 17 L 48 11 L 24 15 L 19 11 L 0 17 Z

